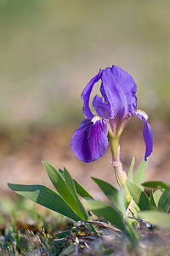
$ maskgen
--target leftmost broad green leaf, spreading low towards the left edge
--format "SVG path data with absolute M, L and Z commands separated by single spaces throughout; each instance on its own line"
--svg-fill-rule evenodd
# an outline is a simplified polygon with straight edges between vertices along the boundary
M 59 212 L 75 221 L 81 220 L 79 216 L 69 207 L 65 201 L 54 192 L 54 190 L 42 185 L 20 185 L 8 183 L 9 189 L 15 193 L 37 202 L 42 207 L 46 207 L 54 212 Z

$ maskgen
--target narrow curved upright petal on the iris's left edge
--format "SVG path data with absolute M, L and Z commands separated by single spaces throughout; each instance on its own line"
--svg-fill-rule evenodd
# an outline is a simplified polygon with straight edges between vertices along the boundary
M 84 90 L 82 90 L 82 96 L 81 96 L 82 103 L 83 103 L 82 112 L 84 113 L 84 116 L 86 119 L 93 119 L 94 117 L 93 113 L 89 108 L 89 98 L 90 98 L 91 91 L 94 87 L 94 84 L 97 83 L 99 79 L 101 79 L 102 73 L 103 73 L 103 70 L 100 69 L 99 73 L 93 79 L 91 79 L 86 85 L 86 87 L 84 88 Z

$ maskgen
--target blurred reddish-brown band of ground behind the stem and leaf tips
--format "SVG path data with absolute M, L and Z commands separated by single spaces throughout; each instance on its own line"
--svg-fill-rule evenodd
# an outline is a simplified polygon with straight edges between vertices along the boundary
M 148 161 L 145 180 L 161 180 L 170 183 L 170 125 L 163 121 L 151 122 L 154 136 L 154 151 Z M 71 152 L 70 141 L 77 126 L 51 128 L 48 131 L 30 131 L 19 142 L 11 137 L 0 137 L 0 195 L 9 192 L 7 183 L 44 184 L 53 188 L 41 161 L 47 160 L 56 168 L 65 166 L 94 198 L 103 200 L 103 194 L 90 177 L 99 177 L 116 185 L 111 167 L 111 149 L 93 163 L 86 164 Z M 143 126 L 132 123 L 121 137 L 121 157 L 124 169 L 128 170 L 133 156 L 135 168 L 144 159 Z M 134 168 L 134 169 L 135 169 Z

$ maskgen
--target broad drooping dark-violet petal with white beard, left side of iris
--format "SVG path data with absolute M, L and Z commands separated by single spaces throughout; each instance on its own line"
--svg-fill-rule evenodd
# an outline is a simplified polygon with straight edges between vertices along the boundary
M 71 138 L 72 152 L 86 163 L 98 160 L 108 147 L 108 120 L 94 117 L 84 120 Z M 84 124 L 84 125 L 83 125 Z

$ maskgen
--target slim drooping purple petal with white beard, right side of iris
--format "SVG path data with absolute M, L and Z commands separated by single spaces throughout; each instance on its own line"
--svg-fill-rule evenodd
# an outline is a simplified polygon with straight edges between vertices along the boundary
M 152 153 L 153 150 L 153 135 L 150 128 L 150 125 L 147 123 L 147 120 L 144 118 L 144 116 L 140 113 L 135 113 L 134 116 L 138 117 L 144 122 L 144 130 L 143 130 L 143 136 L 144 136 L 144 143 L 145 143 L 145 154 L 144 154 L 144 160 L 146 161 L 148 156 Z

